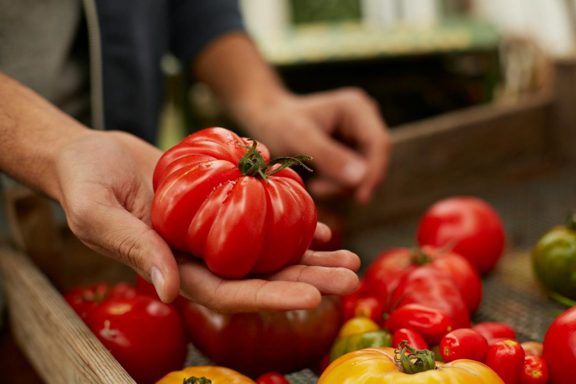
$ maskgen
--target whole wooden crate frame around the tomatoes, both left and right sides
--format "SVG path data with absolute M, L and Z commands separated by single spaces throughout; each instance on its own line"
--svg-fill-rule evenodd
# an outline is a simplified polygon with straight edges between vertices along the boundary
M 350 234 L 419 210 L 453 183 L 529 177 L 574 159 L 576 60 L 557 63 L 556 75 L 554 92 L 394 130 L 386 183 L 371 206 L 348 207 Z M 12 239 L 0 248 L 0 273 L 12 333 L 32 366 L 48 383 L 133 382 L 59 293 L 133 273 L 58 226 L 42 197 L 16 188 L 7 191 L 7 202 Z

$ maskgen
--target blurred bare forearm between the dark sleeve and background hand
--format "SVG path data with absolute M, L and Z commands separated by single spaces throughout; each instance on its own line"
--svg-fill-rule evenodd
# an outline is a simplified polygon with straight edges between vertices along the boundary
M 244 33 L 229 33 L 213 41 L 200 52 L 192 70 L 244 125 L 262 108 L 292 96 Z

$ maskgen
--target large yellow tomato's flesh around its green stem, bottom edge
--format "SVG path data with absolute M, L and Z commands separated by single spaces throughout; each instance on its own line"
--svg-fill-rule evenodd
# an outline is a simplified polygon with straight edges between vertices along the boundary
M 496 372 L 480 362 L 461 359 L 435 362 L 436 369 L 407 374 L 397 367 L 393 348 L 366 348 L 336 359 L 318 384 L 503 384 Z M 399 355 L 398 355 L 399 356 Z

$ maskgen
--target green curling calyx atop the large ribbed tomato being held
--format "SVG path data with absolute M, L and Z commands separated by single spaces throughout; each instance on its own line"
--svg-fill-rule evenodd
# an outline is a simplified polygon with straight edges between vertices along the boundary
M 275 159 L 266 162 L 260 152 L 256 150 L 258 145 L 256 140 L 249 140 L 252 140 L 251 147 L 238 143 L 239 146 L 248 150 L 238 161 L 238 169 L 240 169 L 242 176 L 259 176 L 268 183 L 268 176 L 272 176 L 272 174 L 280 172 L 281 170 L 293 165 L 300 165 L 308 172 L 312 172 L 312 169 L 308 168 L 308 166 L 302 162 L 306 160 L 312 160 L 311 156 L 298 155 L 294 157 L 276 157 Z M 276 165 L 279 166 L 276 167 Z

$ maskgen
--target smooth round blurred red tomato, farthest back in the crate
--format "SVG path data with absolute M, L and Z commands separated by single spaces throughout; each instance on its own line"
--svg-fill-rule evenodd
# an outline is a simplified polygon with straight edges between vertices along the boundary
M 476 197 L 456 196 L 429 208 L 418 225 L 418 244 L 452 250 L 480 273 L 491 271 L 504 250 L 505 230 L 498 213 Z

